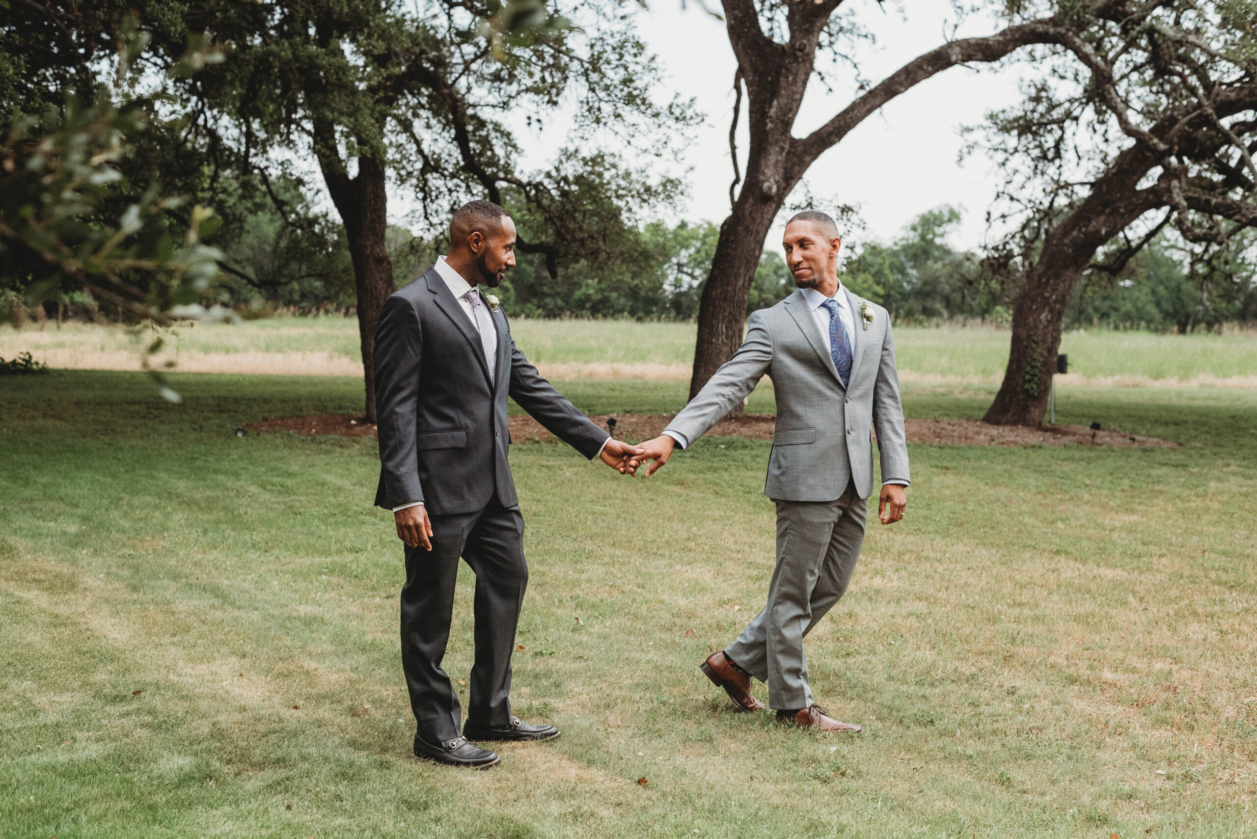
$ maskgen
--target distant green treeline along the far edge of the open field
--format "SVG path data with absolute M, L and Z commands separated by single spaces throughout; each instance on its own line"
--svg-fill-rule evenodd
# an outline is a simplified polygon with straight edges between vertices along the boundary
M 985 270 L 982 256 L 958 251 L 948 236 L 960 221 L 954 207 L 923 212 L 890 244 L 865 244 L 848 256 L 842 281 L 876 300 L 896 323 L 975 322 L 1006 325 L 1017 295 L 1016 279 Z M 226 265 L 240 266 L 220 281 L 244 317 L 288 310 L 344 311 L 354 305 L 353 271 L 342 225 L 294 231 L 261 205 L 243 226 L 248 231 L 220 242 Z M 691 320 L 711 266 L 719 229 L 711 222 L 646 225 L 630 257 L 615 270 L 593 271 L 583 263 L 562 265 L 552 279 L 541 255 L 518 254 L 518 265 L 498 295 L 507 309 L 528 318 L 634 318 Z M 1238 239 L 1238 236 L 1237 236 Z M 1248 242 L 1243 242 L 1247 245 Z M 397 288 L 420 276 L 441 252 L 439 241 L 388 229 Z M 1194 332 L 1257 322 L 1257 266 L 1247 247 L 1232 250 L 1229 264 L 1192 264 L 1166 240 L 1156 240 L 1121 271 L 1089 273 L 1065 317 L 1066 328 L 1105 327 L 1151 332 Z M 755 271 L 747 313 L 776 304 L 794 283 L 784 261 L 764 251 Z M 83 294 L 49 301 L 43 311 L 23 311 L 15 294 L 0 301 L 0 320 L 93 314 Z

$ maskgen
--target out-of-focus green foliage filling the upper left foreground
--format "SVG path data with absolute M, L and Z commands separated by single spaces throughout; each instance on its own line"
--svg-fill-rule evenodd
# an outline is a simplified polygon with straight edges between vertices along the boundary
M 21 34 L 65 35 L 64 26 L 57 29 L 58 14 L 31 16 L 23 8 L 6 19 L 0 48 L 10 55 L 0 64 L 26 67 L 11 54 L 21 48 Z M 150 34 L 138 30 L 134 16 L 117 10 L 109 31 L 117 44 L 112 87 L 97 83 L 102 67 L 91 64 L 85 50 L 67 53 L 64 44 L 38 38 L 28 50 L 48 72 L 23 75 L 25 111 L 8 109 L 0 146 L 0 284 L 31 304 L 54 300 L 60 306 L 82 294 L 89 310 L 104 304 L 132 324 L 221 317 L 202 305 L 221 256 L 201 241 L 219 225 L 214 211 L 166 193 L 160 173 L 131 177 L 145 157 L 138 149 L 168 144 L 185 128 L 168 85 L 221 54 L 206 39 L 189 38 L 165 73 L 152 74 L 137 69 Z M 153 89 L 137 93 L 141 78 L 150 77 Z M 60 98 L 57 108 L 54 98 Z M 14 313 L 20 317 L 19 309 Z M 157 338 L 142 352 L 146 369 L 160 348 Z M 178 398 L 158 371 L 150 373 L 167 398 Z

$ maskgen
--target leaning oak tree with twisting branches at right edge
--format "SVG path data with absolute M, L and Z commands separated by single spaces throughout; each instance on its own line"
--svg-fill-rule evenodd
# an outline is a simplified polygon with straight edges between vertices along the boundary
M 1037 426 L 1065 309 L 1159 235 L 1209 261 L 1257 224 L 1257 41 L 1247 1 L 1104 3 L 1026 55 L 1041 74 L 987 142 L 1009 173 L 987 266 L 1017 286 L 1003 383 L 984 420 Z M 1164 234 L 1163 234 L 1164 231 Z

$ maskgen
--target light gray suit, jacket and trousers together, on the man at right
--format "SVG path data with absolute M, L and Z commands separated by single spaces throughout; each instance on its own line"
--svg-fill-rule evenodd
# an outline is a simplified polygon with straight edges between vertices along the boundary
M 777 566 L 767 604 L 725 654 L 768 683 L 777 710 L 813 702 L 803 637 L 846 592 L 860 558 L 875 428 L 882 482 L 909 481 L 890 318 L 846 294 L 856 323 L 848 382 L 796 293 L 750 315 L 745 342 L 667 426 L 693 442 L 772 377 L 777 428 L 764 495 L 777 502 Z M 872 314 L 867 328 L 862 309 Z

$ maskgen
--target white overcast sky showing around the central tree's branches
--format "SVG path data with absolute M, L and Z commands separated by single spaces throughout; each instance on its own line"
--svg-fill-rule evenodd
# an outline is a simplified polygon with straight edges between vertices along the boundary
M 874 83 L 900 65 L 945 40 L 944 26 L 954 19 L 948 0 L 918 0 L 910 19 L 886 4 L 882 13 L 875 0 L 856 4 L 877 45 L 862 53 L 862 72 Z M 737 63 L 724 25 L 704 13 L 693 0 L 681 10 L 680 0 L 651 0 L 649 11 L 639 13 L 640 31 L 666 70 L 665 88 L 694 97 L 706 114 L 689 147 L 685 162 L 691 167 L 691 197 L 681 216 L 720 222 L 729 212 L 729 121 L 733 116 L 733 75 Z M 972 20 L 960 36 L 989 34 L 991 20 Z M 851 102 L 855 84 L 850 75 L 827 95 L 813 80 L 794 128 L 803 136 Z M 964 211 L 962 229 L 953 245 L 973 247 L 983 239 L 984 214 L 998 182 L 997 172 L 983 158 L 957 163 L 962 146 L 960 126 L 982 121 L 989 108 L 1014 100 L 1012 73 L 974 72 L 952 68 L 891 102 L 866 119 L 842 143 L 831 148 L 811 168 L 807 181 L 817 198 L 861 207 L 866 222 L 862 236 L 889 241 L 918 214 L 943 203 Z M 743 109 L 745 114 L 745 109 Z M 743 116 L 743 121 L 745 117 Z M 522 132 L 525 157 L 535 160 L 542 149 Z M 745 157 L 745 139 L 739 142 Z M 779 245 L 779 231 L 769 244 Z M 857 244 L 851 241 L 850 244 Z

